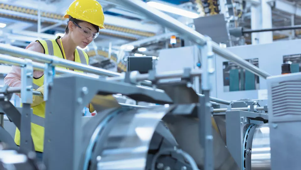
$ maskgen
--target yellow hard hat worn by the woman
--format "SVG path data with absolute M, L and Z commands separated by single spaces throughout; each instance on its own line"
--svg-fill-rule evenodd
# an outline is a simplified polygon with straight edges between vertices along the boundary
M 104 14 L 103 7 L 96 0 L 75 0 L 66 10 L 64 18 L 72 18 L 83 20 L 91 24 L 99 26 L 103 29 Z

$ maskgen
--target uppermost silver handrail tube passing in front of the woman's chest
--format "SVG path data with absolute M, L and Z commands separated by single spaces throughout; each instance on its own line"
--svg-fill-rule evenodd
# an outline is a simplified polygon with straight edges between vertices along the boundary
M 100 69 L 97 67 L 92 67 L 84 65 L 81 63 L 72 62 L 55 56 L 45 55 L 39 52 L 25 50 L 23 48 L 10 46 L 7 44 L 0 43 L 0 52 L 3 54 L 8 54 L 21 58 L 29 58 L 33 61 L 39 61 L 43 63 L 52 63 L 55 66 L 62 66 L 71 69 L 81 70 L 87 73 L 93 73 L 97 75 L 107 75 L 107 76 L 119 76 L 119 73 L 108 71 L 105 69 Z

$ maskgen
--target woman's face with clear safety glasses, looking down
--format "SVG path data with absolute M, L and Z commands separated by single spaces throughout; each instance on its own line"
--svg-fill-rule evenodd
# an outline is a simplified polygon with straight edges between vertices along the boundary
M 78 24 L 72 22 L 73 41 L 81 48 L 87 47 L 98 34 L 98 31 L 88 22 L 83 21 Z

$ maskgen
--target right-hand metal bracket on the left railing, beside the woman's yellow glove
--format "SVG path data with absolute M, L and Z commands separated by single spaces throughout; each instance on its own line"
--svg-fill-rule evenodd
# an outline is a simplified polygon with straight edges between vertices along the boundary
M 53 86 L 53 78 L 55 76 L 55 66 L 52 63 L 46 63 L 44 70 L 44 101 L 48 100 L 48 95 Z

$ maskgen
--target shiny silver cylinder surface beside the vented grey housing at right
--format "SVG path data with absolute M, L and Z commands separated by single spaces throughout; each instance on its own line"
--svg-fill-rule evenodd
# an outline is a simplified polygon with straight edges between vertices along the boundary
M 270 128 L 268 124 L 257 125 L 251 152 L 251 170 L 271 169 Z

